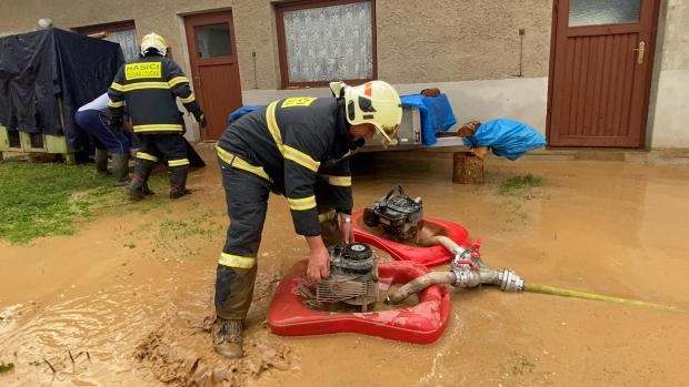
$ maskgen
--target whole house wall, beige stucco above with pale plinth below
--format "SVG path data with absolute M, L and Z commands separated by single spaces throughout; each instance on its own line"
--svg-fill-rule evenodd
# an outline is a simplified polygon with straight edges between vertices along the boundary
M 3 0 L 0 34 L 34 30 L 40 18 L 74 28 L 134 20 L 156 31 L 189 72 L 183 16 L 231 9 L 244 104 L 286 95 L 328 95 L 326 89 L 280 90 L 274 10 L 269 0 L 118 2 Z M 427 86 L 448 94 L 458 122 L 509 116 L 546 132 L 552 0 L 377 0 L 378 77 L 400 93 Z M 648 141 L 653 147 L 689 146 L 689 7 L 662 0 Z M 519 29 L 525 29 L 520 69 Z M 256 52 L 256 61 L 252 52 Z M 254 71 L 256 65 L 256 71 Z M 256 74 L 256 77 L 254 77 Z M 190 131 L 198 139 L 198 130 Z

